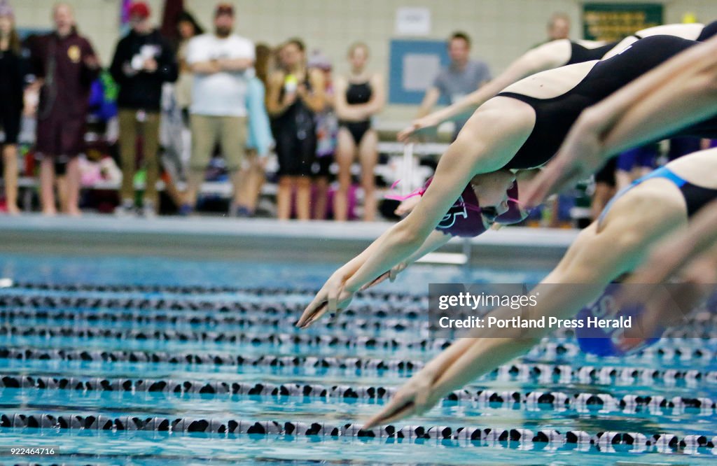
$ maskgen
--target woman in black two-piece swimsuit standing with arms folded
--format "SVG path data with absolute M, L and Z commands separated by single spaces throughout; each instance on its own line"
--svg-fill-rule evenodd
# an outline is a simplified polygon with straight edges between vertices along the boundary
M 364 220 L 376 217 L 374 167 L 378 158 L 379 138 L 371 128 L 371 118 L 384 108 L 384 80 L 378 73 L 366 71 L 369 47 L 353 44 L 348 49 L 351 73 L 336 80 L 336 115 L 339 119 L 336 162 L 338 191 L 333 201 L 333 217 L 348 219 L 348 188 L 351 186 L 351 163 L 359 154 L 361 187 L 364 189 Z

